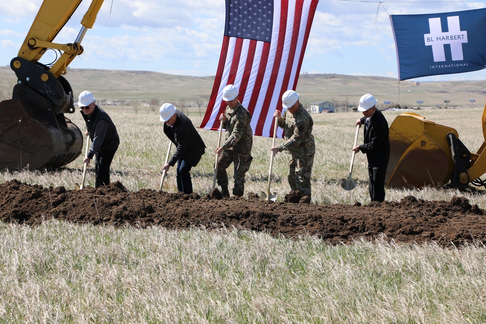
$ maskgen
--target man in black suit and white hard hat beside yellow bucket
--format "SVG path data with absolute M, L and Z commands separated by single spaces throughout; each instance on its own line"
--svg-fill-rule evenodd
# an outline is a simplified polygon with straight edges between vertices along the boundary
M 368 160 L 369 195 L 372 202 L 385 200 L 385 174 L 390 159 L 388 122 L 382 112 L 376 109 L 377 100 L 369 93 L 360 99 L 358 110 L 363 112 L 356 125 L 364 124 L 364 144 L 353 148 L 355 153 L 366 153 Z

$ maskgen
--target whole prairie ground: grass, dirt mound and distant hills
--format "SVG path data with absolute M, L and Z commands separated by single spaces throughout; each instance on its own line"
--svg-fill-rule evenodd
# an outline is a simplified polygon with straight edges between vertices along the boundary
M 0 173 L 3 323 L 486 321 L 484 188 L 387 189 L 386 202 L 370 204 L 365 156 L 358 154 L 358 186 L 343 190 L 361 116 L 343 108 L 312 115 L 311 202 L 284 202 L 290 189 L 288 157 L 281 153 L 271 178 L 278 201 L 260 202 L 271 146 L 261 137 L 254 139 L 245 196 L 211 195 L 218 136 L 208 130 L 199 130 L 207 151 L 192 170 L 195 193 L 176 193 L 172 168 L 158 191 L 169 142 L 151 102 L 185 102 L 184 112 L 199 126 L 205 107 L 197 102 L 206 104 L 212 78 L 171 76 L 164 83 L 154 72 L 96 73 L 69 71 L 76 95 L 90 89 L 98 100 L 132 102 L 104 106 L 121 137 L 113 183 L 91 188 L 90 166 L 88 188 L 74 190 L 82 157 L 57 171 Z M 4 93 L 11 75 L 1 80 Z M 307 75 L 297 92 L 302 101 L 333 98 L 352 106 L 365 92 L 391 96 L 396 85 L 387 78 Z M 435 89 L 444 86 L 431 84 L 424 102 L 434 102 L 441 93 Z M 484 141 L 483 83 L 446 87 L 456 98 L 449 107 L 416 112 L 455 128 L 475 152 Z M 383 100 L 405 100 L 396 96 Z M 384 115 L 391 124 L 399 112 Z M 84 129 L 79 111 L 67 117 Z

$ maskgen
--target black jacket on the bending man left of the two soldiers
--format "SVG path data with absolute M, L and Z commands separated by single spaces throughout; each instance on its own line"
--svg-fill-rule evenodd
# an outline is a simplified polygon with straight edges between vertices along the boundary
M 192 125 L 191 119 L 178 110 L 175 111 L 175 114 L 177 118 L 174 125 L 167 126 L 164 122 L 165 135 L 176 145 L 175 152 L 168 163 L 174 167 L 175 163 L 183 158 L 192 167 L 195 167 L 201 160 L 206 145 Z

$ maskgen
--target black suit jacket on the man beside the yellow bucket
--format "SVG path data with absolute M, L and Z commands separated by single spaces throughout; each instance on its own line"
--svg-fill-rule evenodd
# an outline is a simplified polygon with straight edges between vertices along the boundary
M 360 119 L 364 125 L 364 144 L 360 145 L 360 151 L 366 153 L 370 167 L 380 167 L 388 164 L 390 157 L 390 139 L 388 138 L 388 122 L 378 109 L 369 120 L 366 127 L 366 118 Z

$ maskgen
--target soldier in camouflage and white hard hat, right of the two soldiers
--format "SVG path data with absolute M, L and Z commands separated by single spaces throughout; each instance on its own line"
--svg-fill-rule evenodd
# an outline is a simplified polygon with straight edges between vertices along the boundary
M 288 175 L 290 189 L 300 190 L 303 195 L 311 196 L 311 171 L 315 153 L 312 135 L 314 122 L 294 90 L 285 91 L 282 106 L 287 108 L 283 116 L 280 117 L 281 112 L 276 110 L 274 117 L 278 117 L 278 126 L 284 129 L 285 142 L 273 147 L 272 152 L 274 155 L 282 151 L 291 154 Z

